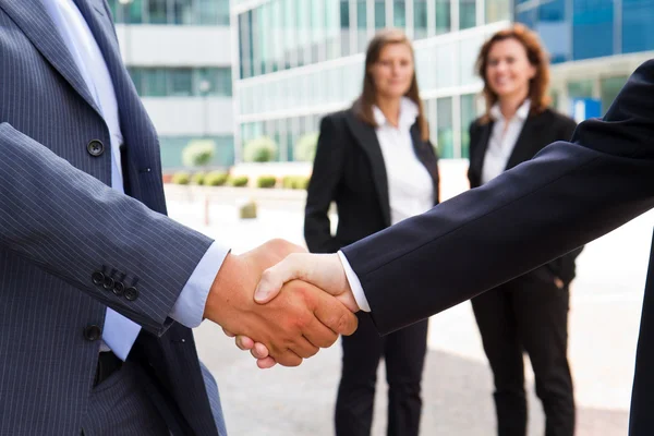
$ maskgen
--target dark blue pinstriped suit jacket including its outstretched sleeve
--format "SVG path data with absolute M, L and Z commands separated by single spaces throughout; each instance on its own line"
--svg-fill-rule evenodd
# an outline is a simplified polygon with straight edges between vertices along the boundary
M 153 374 L 197 435 L 217 435 L 193 335 L 167 316 L 211 241 L 165 216 L 157 135 L 109 9 L 75 1 L 111 73 L 132 197 L 108 186 L 109 131 L 40 0 L 0 0 L 0 435 L 80 434 L 100 346 L 83 331 L 106 306 L 144 327 Z M 138 298 L 96 286 L 102 268 Z

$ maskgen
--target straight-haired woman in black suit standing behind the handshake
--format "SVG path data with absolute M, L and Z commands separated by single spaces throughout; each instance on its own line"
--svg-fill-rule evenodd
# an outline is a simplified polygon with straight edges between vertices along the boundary
M 363 92 L 354 105 L 325 117 L 308 185 L 304 235 L 313 253 L 342 246 L 422 214 L 438 203 L 437 157 L 419 96 L 413 48 L 399 31 L 371 41 Z M 338 207 L 331 233 L 328 210 Z M 342 338 L 336 403 L 339 436 L 370 435 L 377 366 L 386 361 L 389 436 L 419 434 L 427 320 L 379 337 L 373 318 Z

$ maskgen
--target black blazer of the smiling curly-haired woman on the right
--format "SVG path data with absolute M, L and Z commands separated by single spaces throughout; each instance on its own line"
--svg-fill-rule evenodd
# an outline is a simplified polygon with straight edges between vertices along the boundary
M 482 185 L 482 170 L 493 125 L 493 122 L 482 123 L 481 119 L 470 124 L 470 167 L 468 169 L 470 187 Z M 505 171 L 530 160 L 548 144 L 557 141 L 569 141 L 576 128 L 574 120 L 552 109 L 546 109 L 537 114 L 530 114 L 524 121 Z M 582 250 L 583 247 L 580 247 L 543 265 L 529 272 L 529 278 L 552 282 L 557 277 L 566 286 L 569 286 L 576 275 L 574 259 Z

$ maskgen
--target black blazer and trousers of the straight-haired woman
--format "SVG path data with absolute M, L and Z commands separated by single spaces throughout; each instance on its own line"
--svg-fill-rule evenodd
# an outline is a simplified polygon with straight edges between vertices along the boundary
M 412 150 L 432 184 L 428 190 L 432 197 L 427 202 L 437 203 L 436 154 L 431 143 L 421 138 L 417 123 L 409 120 L 407 126 L 410 123 L 413 123 L 410 129 Z M 327 215 L 332 201 L 339 217 L 335 235 Z M 320 124 L 307 190 L 304 234 L 310 251 L 336 253 L 351 242 L 389 227 L 391 215 L 387 164 L 375 126 L 362 121 L 354 109 L 327 116 Z M 356 332 L 342 338 L 343 368 L 336 404 L 338 435 L 370 435 L 382 356 L 386 361 L 389 385 L 388 434 L 417 435 L 427 327 L 425 319 L 380 338 L 370 316 L 360 314 Z

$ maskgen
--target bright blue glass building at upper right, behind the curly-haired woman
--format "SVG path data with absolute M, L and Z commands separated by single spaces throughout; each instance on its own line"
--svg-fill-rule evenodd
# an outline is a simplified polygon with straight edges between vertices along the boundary
M 559 110 L 593 99 L 604 114 L 633 69 L 654 50 L 654 0 L 517 0 L 514 20 L 550 55 Z

